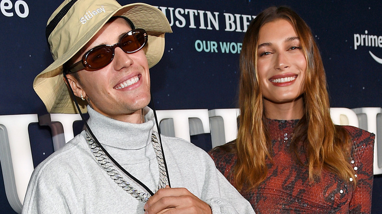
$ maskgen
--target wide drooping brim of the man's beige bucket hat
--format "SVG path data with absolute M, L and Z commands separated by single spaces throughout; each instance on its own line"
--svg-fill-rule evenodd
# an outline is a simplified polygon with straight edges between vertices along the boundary
M 157 64 L 164 53 L 165 33 L 171 33 L 166 16 L 156 7 L 144 3 L 121 6 L 98 21 L 84 36 L 62 56 L 59 56 L 44 71 L 36 76 L 33 88 L 44 102 L 49 113 L 78 113 L 63 77 L 63 65 L 88 43 L 103 25 L 114 16 L 124 16 L 131 20 L 136 28 L 143 28 L 148 34 L 144 48 L 149 67 Z M 87 112 L 86 102 L 77 99 L 83 113 Z

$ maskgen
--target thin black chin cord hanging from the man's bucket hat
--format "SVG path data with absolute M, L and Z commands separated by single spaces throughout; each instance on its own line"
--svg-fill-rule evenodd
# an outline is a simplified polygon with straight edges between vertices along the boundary
M 120 166 L 119 163 L 109 154 L 109 152 L 107 152 L 105 150 L 105 148 L 103 148 L 103 146 L 99 143 L 98 139 L 95 137 L 95 135 L 93 134 L 93 131 L 90 129 L 88 123 L 86 122 L 86 119 L 85 119 L 84 115 L 82 114 L 82 111 L 81 111 L 81 109 L 80 109 L 80 107 L 79 107 L 79 105 L 77 103 L 77 100 L 75 99 L 75 95 L 74 95 L 72 86 L 70 85 L 69 80 L 66 77 L 65 71 L 64 71 L 64 77 L 65 77 L 65 80 L 66 80 L 66 82 L 67 82 L 67 84 L 68 84 L 68 86 L 70 88 L 70 91 L 71 91 L 71 94 L 72 94 L 72 98 L 73 98 L 75 106 L 77 107 L 77 110 L 78 110 L 78 112 L 79 112 L 79 114 L 80 114 L 80 116 L 82 118 L 82 121 L 84 122 L 85 127 L 89 131 L 90 135 L 92 135 L 92 138 L 94 139 L 95 143 L 102 149 L 103 152 L 105 152 L 105 154 L 108 156 L 108 158 L 119 168 L 119 170 L 123 171 L 132 180 L 134 180 L 139 185 L 141 185 L 141 187 L 143 187 L 148 193 L 150 193 L 151 196 L 154 195 L 154 193 L 146 185 L 144 185 L 139 179 L 134 177 L 132 174 L 130 174 L 128 171 L 126 171 L 122 166 Z M 167 169 L 167 163 L 166 163 L 166 158 L 165 158 L 165 152 L 163 151 L 162 138 L 161 138 L 161 130 L 160 130 L 160 127 L 158 125 L 157 113 L 156 113 L 156 110 L 155 110 L 154 101 L 152 99 L 151 91 L 150 91 L 150 95 L 151 95 L 150 103 L 152 103 L 152 106 L 153 106 L 155 124 L 156 124 L 157 129 L 158 129 L 159 143 L 161 144 L 161 151 L 162 151 L 162 155 L 163 155 L 163 162 L 164 162 L 165 168 L 166 168 L 168 186 L 171 187 L 170 178 L 168 176 L 168 169 Z

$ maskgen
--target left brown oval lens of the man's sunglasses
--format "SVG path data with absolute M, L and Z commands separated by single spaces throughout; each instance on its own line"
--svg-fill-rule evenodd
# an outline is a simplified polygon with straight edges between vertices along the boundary
M 100 46 L 92 50 L 86 57 L 90 69 L 99 69 L 113 60 L 113 50 L 108 46 Z

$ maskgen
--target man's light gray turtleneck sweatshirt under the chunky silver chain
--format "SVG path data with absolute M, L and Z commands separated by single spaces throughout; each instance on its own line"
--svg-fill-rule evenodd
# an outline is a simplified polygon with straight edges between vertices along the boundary
M 88 124 L 105 150 L 154 190 L 159 180 L 151 145 L 155 120 L 150 108 L 145 107 L 144 111 L 145 123 L 131 124 L 105 117 L 88 107 Z M 119 187 L 95 160 L 85 134 L 82 131 L 36 167 L 25 195 L 23 214 L 144 213 L 144 203 Z M 171 187 L 187 188 L 209 204 L 213 214 L 254 213 L 204 150 L 183 139 L 163 135 L 162 144 Z M 119 173 L 143 191 L 128 176 Z

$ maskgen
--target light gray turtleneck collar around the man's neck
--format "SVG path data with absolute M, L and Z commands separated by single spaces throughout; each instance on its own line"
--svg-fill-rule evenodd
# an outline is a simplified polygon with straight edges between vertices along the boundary
M 138 150 L 150 144 L 155 119 L 151 108 L 144 107 L 142 124 L 126 123 L 106 117 L 88 106 L 88 125 L 102 145 Z

